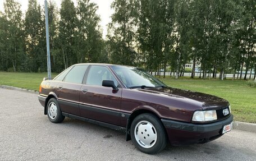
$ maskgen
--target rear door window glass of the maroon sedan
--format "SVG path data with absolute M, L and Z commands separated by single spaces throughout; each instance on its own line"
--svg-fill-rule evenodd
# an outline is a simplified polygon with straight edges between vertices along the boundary
M 82 84 L 87 67 L 88 66 L 74 66 L 72 70 L 67 73 L 64 81 Z

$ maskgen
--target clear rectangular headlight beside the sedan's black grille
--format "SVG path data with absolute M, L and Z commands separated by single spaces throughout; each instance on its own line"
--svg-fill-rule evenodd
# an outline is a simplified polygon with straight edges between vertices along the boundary
M 217 119 L 217 114 L 215 110 L 195 111 L 193 114 L 192 121 L 205 122 L 205 121 L 213 121 L 216 119 Z

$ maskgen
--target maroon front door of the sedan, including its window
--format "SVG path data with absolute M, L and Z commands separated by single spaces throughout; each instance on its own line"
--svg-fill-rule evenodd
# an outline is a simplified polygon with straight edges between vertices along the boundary
M 106 66 L 90 66 L 85 84 L 80 91 L 81 116 L 97 121 L 120 125 L 121 94 L 118 90 L 102 86 L 103 80 L 113 80 L 118 86 L 113 73 Z

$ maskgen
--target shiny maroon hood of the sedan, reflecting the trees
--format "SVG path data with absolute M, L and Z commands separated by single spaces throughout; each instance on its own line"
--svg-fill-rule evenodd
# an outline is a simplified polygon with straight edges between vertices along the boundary
M 191 100 L 191 102 L 198 102 L 202 105 L 203 109 L 212 109 L 216 107 L 227 107 L 229 103 L 227 100 L 219 98 L 214 95 L 199 93 L 190 90 L 182 90 L 176 88 L 145 88 L 138 89 L 139 91 L 144 91 L 152 94 L 160 94 L 164 96 L 170 96 L 172 98 L 184 98 L 185 101 Z

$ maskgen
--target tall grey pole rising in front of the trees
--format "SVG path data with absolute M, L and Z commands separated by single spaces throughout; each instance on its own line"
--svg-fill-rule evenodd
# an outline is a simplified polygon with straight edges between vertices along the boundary
M 49 44 L 49 25 L 48 25 L 48 7 L 47 1 L 44 1 L 45 10 L 45 30 L 46 30 L 46 46 L 47 46 L 47 73 L 48 77 L 51 78 L 51 57 L 50 57 L 50 44 Z

